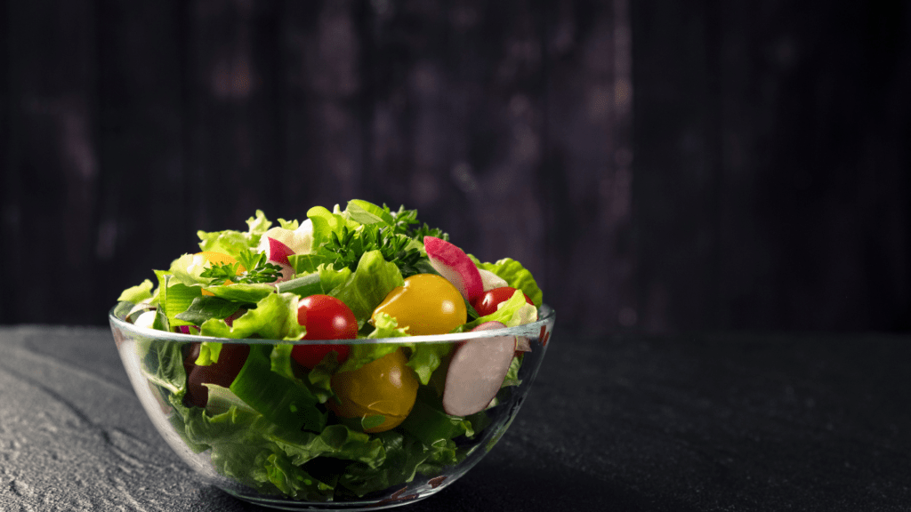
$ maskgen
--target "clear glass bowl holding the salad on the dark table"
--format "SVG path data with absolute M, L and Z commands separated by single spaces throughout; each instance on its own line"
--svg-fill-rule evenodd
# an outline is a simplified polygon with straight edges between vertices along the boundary
M 451 485 L 496 445 L 512 423 L 547 352 L 555 320 L 555 312 L 543 305 L 537 322 L 517 327 L 404 338 L 279 342 L 138 327 L 127 320 L 131 308 L 129 302 L 121 302 L 111 309 L 108 319 L 129 380 L 159 434 L 201 481 L 251 503 L 285 510 L 396 507 Z M 481 398 L 486 406 L 482 405 L 479 412 L 447 415 L 445 410 L 452 412 L 453 408 L 442 405 L 444 393 L 465 394 L 467 390 L 470 396 L 472 386 L 483 381 L 462 379 L 469 382 L 450 384 L 453 379 L 447 381 L 445 377 L 447 369 L 453 367 L 453 354 L 463 353 L 459 349 L 466 346 L 501 343 L 505 336 L 516 340 L 516 350 L 496 395 L 489 403 Z M 271 410 L 267 418 L 248 404 L 238 403 L 237 396 L 233 401 L 230 396 L 210 398 L 205 409 L 188 405 L 187 373 L 192 366 L 185 366 L 184 360 L 190 360 L 189 351 L 200 342 L 249 347 L 251 355 L 246 357 L 243 371 L 276 364 L 281 353 L 288 353 L 289 344 L 382 343 L 391 352 L 440 354 L 441 363 L 426 384 L 418 377 L 415 405 L 404 421 L 374 432 L 388 428 L 376 426 L 384 420 L 383 415 L 365 419 L 335 415 L 332 411 L 338 410 L 339 401 L 332 394 L 321 395 L 321 380 L 310 378 L 316 372 L 302 368 L 295 368 L 294 374 L 276 373 L 277 366 L 265 372 L 268 378 L 264 382 L 269 381 L 271 387 L 259 398 L 267 402 L 284 400 L 281 410 L 286 414 L 276 415 L 270 407 L 259 407 Z M 472 342 L 476 343 L 469 345 Z M 219 346 L 224 351 L 225 345 Z M 461 386 L 463 391 L 445 392 L 450 385 L 453 389 Z M 317 400 L 299 409 L 293 400 L 289 404 L 281 398 L 282 386 L 293 390 L 291 394 L 309 390 L 302 393 Z M 322 388 L 328 389 L 329 384 L 322 384 Z M 216 388 L 208 389 L 220 397 Z M 317 391 L 310 393 L 314 389 Z M 336 407 L 329 406 L 333 404 Z

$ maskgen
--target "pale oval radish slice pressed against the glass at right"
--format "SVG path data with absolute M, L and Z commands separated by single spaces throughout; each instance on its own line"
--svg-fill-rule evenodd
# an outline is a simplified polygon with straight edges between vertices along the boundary
M 486 322 L 474 331 L 502 329 L 505 324 Z M 474 415 L 496 396 L 516 353 L 516 336 L 478 338 L 460 343 L 453 353 L 443 386 L 447 415 Z

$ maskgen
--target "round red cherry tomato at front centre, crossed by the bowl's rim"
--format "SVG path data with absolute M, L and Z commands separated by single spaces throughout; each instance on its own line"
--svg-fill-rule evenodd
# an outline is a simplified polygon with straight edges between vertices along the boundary
M 301 300 L 297 323 L 307 328 L 304 340 L 353 340 L 357 319 L 344 302 L 329 295 L 311 295 Z M 348 358 L 348 345 L 297 345 L 291 351 L 294 361 L 312 369 L 327 353 L 334 352 L 339 363 Z

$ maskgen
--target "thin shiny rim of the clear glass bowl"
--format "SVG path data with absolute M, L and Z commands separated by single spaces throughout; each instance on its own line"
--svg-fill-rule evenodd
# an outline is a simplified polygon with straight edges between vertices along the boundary
M 125 320 L 128 312 L 135 304 L 133 302 L 118 302 L 107 313 L 107 319 L 111 327 L 117 327 L 121 331 L 142 337 L 156 340 L 166 340 L 170 342 L 183 343 L 243 343 L 243 344 L 276 344 L 290 343 L 295 345 L 313 345 L 313 344 L 330 344 L 330 345 L 351 345 L 351 344 L 405 344 L 405 343 L 453 343 L 477 338 L 492 338 L 495 336 L 527 336 L 537 337 L 543 335 L 548 329 L 548 323 L 554 323 L 557 318 L 557 312 L 548 304 L 541 304 L 537 308 L 537 320 L 532 323 L 524 323 L 515 327 L 504 327 L 500 329 L 487 329 L 484 331 L 469 331 L 466 333 L 448 333 L 448 334 L 424 334 L 419 336 L 403 336 L 395 338 L 360 338 L 353 340 L 270 340 L 264 338 L 220 338 L 216 336 L 200 336 L 199 334 L 169 333 L 159 331 L 148 327 L 138 327 L 133 323 Z

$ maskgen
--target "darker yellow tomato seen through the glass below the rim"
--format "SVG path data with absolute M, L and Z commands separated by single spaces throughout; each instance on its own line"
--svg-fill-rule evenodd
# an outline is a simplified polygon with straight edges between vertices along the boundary
M 357 370 L 334 374 L 333 391 L 341 404 L 329 400 L 326 405 L 343 418 L 384 416 L 382 424 L 364 432 L 395 428 L 411 413 L 417 397 L 417 378 L 407 363 L 402 349 L 396 349 Z

